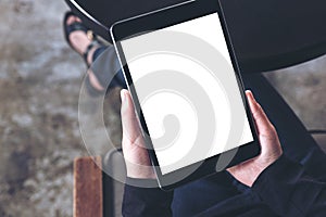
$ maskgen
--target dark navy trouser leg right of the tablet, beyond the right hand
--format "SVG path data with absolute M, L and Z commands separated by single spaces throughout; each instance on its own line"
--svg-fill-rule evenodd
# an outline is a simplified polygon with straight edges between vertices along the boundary
M 243 75 L 247 89 L 251 89 L 271 122 L 274 124 L 284 153 L 302 164 L 315 178 L 326 174 L 325 153 L 308 133 L 305 127 L 271 84 L 260 74 Z

